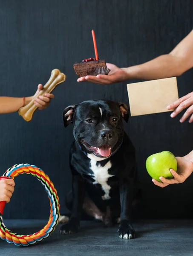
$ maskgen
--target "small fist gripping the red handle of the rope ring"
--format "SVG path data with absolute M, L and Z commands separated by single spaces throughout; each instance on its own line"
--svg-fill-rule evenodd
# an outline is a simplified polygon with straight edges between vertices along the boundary
M 10 198 L 14 192 L 14 180 L 6 179 L 0 180 L 0 201 L 10 202 Z

